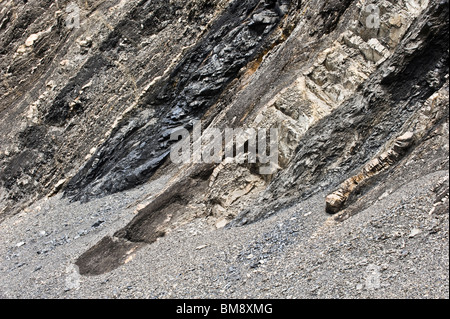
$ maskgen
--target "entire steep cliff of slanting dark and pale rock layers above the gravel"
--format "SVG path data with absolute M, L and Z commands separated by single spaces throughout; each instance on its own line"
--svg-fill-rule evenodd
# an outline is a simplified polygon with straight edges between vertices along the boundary
M 305 236 L 327 241 L 428 178 L 448 215 L 448 1 L 0 5 L 0 221 L 143 190 L 136 215 L 75 250 L 82 275 L 199 220 L 239 232 L 311 201 L 323 215 Z M 173 163 L 171 134 L 195 143 L 197 121 L 204 135 L 278 129 L 274 170 L 224 153 Z

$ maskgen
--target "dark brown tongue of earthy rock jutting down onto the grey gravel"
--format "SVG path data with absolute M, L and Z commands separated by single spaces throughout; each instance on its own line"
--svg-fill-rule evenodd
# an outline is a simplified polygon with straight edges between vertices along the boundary
M 123 229 L 103 238 L 76 261 L 81 275 L 101 275 L 126 264 L 140 248 L 164 237 L 174 223 L 192 218 L 190 201 L 208 187 L 213 165 L 200 165 L 189 178 L 169 187 Z

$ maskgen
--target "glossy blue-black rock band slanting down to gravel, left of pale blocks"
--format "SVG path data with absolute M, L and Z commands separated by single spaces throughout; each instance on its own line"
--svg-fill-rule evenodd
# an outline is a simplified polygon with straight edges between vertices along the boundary
M 127 119 L 121 123 L 119 129 L 130 121 L 134 121 L 138 129 L 132 136 L 120 136 L 119 129 L 116 130 L 119 135 L 112 136 L 70 181 L 66 196 L 73 200 L 89 200 L 133 188 L 153 175 L 168 155 L 171 130 L 179 126 L 189 128 L 193 119 L 201 118 L 217 102 L 240 69 L 265 45 L 282 18 L 267 24 L 262 31 L 264 33 L 260 34 L 249 27 L 251 17 L 242 14 L 245 9 L 273 14 L 273 11 L 260 6 L 259 1 L 236 1 L 213 24 L 204 40 L 175 68 L 162 90 L 159 86 L 158 91 L 151 91 L 144 99 L 146 103 L 140 109 L 158 110 L 157 124 L 146 126 L 145 121 L 141 123 L 139 119 Z M 236 17 L 235 12 L 240 16 Z M 213 93 L 210 95 L 208 90 Z M 110 152 L 112 149 L 120 151 Z M 110 155 L 108 158 L 100 157 L 107 153 Z M 97 191 L 92 192 L 94 183 Z

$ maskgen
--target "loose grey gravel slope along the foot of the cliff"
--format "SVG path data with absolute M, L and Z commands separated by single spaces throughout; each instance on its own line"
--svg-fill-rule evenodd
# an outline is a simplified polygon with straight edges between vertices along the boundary
M 53 198 L 2 224 L 0 296 L 448 298 L 448 209 L 429 214 L 436 185 L 448 189 L 448 171 L 337 224 L 324 213 L 325 194 L 246 227 L 212 230 L 198 219 L 95 277 L 72 263 L 129 221 L 127 205 L 158 183 L 88 204 Z

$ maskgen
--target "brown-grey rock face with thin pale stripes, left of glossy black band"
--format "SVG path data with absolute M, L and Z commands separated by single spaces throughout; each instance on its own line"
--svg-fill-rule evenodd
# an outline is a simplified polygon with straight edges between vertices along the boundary
M 53 193 L 114 130 L 156 121 L 137 108 L 145 92 L 229 5 L 80 1 L 80 27 L 69 28 L 71 3 L 2 2 L 0 211 Z

